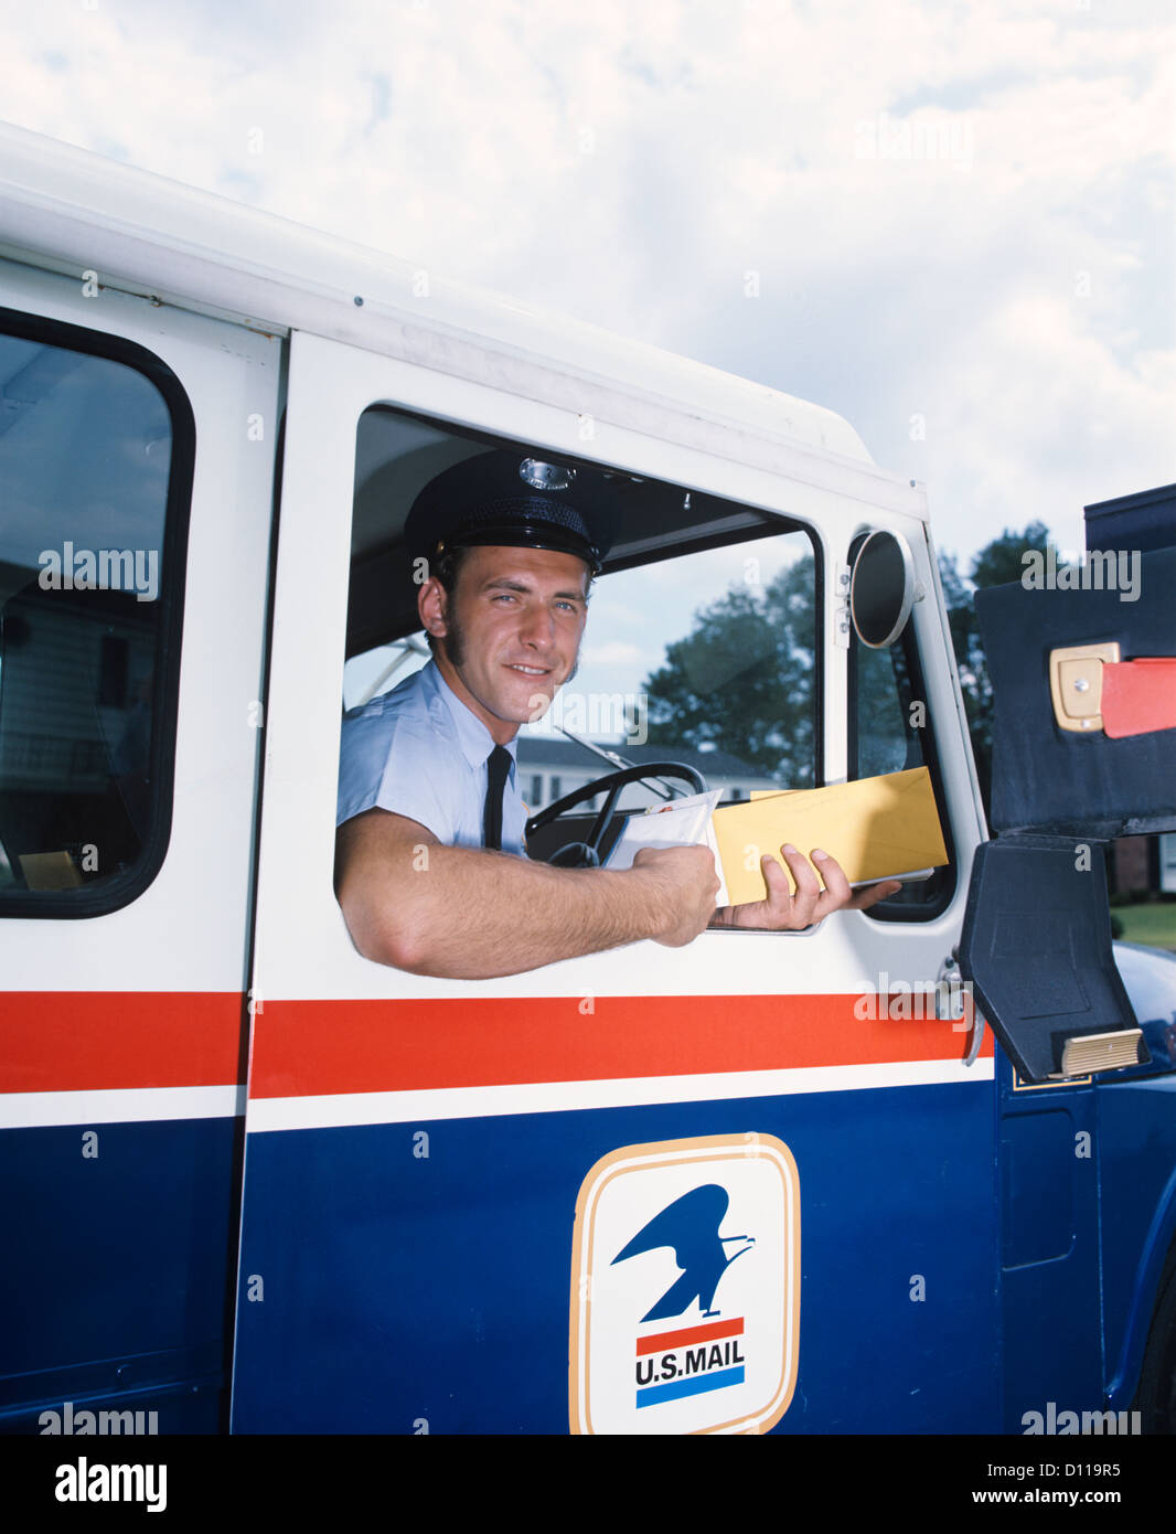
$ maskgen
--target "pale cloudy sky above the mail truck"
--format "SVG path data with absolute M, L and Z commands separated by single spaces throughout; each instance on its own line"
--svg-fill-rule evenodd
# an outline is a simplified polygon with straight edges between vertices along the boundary
M 846 416 L 964 558 L 1173 468 L 1162 0 L 0 0 L 0 115 Z

